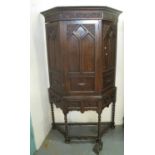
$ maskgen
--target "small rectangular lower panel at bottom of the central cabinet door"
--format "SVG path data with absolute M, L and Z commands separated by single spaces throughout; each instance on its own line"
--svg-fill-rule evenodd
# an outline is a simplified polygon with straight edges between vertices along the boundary
M 94 91 L 94 77 L 71 77 L 70 90 L 71 91 Z

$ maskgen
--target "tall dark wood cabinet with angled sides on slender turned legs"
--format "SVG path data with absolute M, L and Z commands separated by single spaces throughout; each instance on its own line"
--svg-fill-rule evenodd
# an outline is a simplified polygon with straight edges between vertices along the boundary
M 97 142 L 101 141 L 101 112 L 113 103 L 115 112 L 115 68 L 117 20 L 121 12 L 109 7 L 56 7 L 42 12 L 46 22 L 49 97 L 62 109 L 65 139 L 67 113 L 95 110 L 98 113 Z

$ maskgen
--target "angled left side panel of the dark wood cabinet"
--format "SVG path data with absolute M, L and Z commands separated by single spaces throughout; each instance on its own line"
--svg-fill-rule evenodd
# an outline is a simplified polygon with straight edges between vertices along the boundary
M 60 48 L 59 22 L 46 24 L 47 52 L 50 88 L 62 91 L 62 56 Z

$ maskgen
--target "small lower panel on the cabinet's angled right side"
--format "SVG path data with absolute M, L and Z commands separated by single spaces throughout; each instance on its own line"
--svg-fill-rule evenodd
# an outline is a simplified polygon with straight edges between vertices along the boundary
M 114 86 L 114 71 L 103 73 L 103 89 Z

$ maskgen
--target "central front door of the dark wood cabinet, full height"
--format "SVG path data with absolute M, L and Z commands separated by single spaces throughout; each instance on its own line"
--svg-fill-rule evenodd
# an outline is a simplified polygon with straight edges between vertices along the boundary
M 65 87 L 70 94 L 88 94 L 101 89 L 100 24 L 98 20 L 63 22 Z

